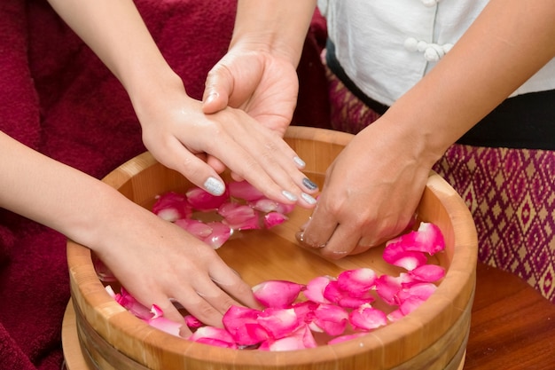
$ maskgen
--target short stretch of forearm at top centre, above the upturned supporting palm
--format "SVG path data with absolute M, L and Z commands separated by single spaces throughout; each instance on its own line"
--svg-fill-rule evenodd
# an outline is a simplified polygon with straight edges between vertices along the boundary
M 297 66 L 316 0 L 239 0 L 231 46 L 239 41 Z

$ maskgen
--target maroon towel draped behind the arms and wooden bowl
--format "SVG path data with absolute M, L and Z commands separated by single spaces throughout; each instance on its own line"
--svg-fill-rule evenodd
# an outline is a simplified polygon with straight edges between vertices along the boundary
M 200 98 L 207 71 L 227 49 L 235 2 L 137 6 L 187 91 Z M 299 68 L 301 81 L 315 86 L 324 82 L 319 25 Z M 0 130 L 98 178 L 145 150 L 121 84 L 46 1 L 0 1 L 0 35 Z M 294 122 L 326 126 L 325 89 L 301 97 Z M 0 209 L 0 370 L 60 368 L 68 299 L 64 236 Z

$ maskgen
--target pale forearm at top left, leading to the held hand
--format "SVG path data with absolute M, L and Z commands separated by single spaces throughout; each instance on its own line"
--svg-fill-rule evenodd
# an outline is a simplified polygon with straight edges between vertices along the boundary
M 49 0 L 121 81 L 131 98 L 178 79 L 132 0 Z

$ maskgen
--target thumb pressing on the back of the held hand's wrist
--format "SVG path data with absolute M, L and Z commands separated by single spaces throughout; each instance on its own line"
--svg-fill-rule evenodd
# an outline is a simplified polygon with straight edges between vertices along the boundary
M 233 89 L 233 79 L 228 69 L 216 65 L 208 72 L 202 96 L 202 112 L 214 114 L 228 106 Z

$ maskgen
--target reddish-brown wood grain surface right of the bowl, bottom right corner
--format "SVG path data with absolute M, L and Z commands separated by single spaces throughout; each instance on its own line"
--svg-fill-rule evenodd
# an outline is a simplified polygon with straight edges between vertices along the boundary
M 555 369 L 555 304 L 509 272 L 478 264 L 465 370 Z

